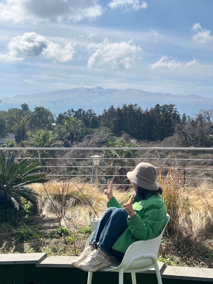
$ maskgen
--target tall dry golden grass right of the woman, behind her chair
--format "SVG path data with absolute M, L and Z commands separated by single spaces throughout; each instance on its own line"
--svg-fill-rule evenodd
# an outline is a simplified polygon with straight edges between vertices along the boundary
M 206 183 L 196 190 L 183 189 L 182 181 L 182 172 L 178 169 L 169 169 L 166 176 L 163 171 L 159 173 L 162 198 L 170 215 L 166 230 L 171 240 L 169 249 L 201 252 L 206 240 L 213 245 L 213 191 L 204 189 Z

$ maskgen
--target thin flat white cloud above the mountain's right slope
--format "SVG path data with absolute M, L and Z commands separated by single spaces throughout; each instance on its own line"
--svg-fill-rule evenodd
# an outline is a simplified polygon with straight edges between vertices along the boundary
M 154 64 L 150 64 L 150 69 L 156 69 L 156 68 L 180 68 L 183 66 L 191 66 L 193 64 L 196 64 L 197 60 L 193 58 L 193 60 L 188 62 L 179 62 L 173 57 L 169 56 L 162 56 L 157 62 Z

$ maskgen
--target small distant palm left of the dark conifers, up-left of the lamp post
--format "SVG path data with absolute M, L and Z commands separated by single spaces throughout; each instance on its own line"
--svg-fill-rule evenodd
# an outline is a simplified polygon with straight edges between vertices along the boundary
M 64 119 L 64 128 L 67 131 L 67 134 L 70 139 L 70 143 L 73 144 L 75 141 L 78 144 L 79 137 L 84 130 L 84 123 L 82 120 L 77 119 L 77 117 L 70 117 L 69 120 Z

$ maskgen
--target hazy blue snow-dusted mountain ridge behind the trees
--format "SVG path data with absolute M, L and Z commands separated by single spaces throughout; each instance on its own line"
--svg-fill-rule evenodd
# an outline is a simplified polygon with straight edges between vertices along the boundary
M 155 106 L 157 103 L 175 104 L 180 113 L 191 115 L 200 109 L 213 108 L 213 98 L 199 95 L 172 95 L 171 93 L 153 93 L 140 89 L 103 89 L 101 86 L 94 88 L 76 87 L 73 89 L 60 89 L 43 93 L 27 95 L 15 95 L 13 97 L 2 97 L 1 110 L 10 107 L 20 107 L 27 103 L 30 109 L 36 106 L 49 108 L 53 113 L 67 111 L 68 109 L 93 109 L 96 113 L 102 113 L 110 105 L 122 106 L 124 103 L 137 103 L 142 109 Z

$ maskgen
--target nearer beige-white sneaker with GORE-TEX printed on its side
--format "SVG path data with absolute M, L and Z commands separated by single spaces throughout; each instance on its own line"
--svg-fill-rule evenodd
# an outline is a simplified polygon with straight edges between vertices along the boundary
M 79 269 L 95 272 L 110 266 L 108 256 L 102 250 L 93 250 L 89 253 L 85 261 L 79 264 Z

